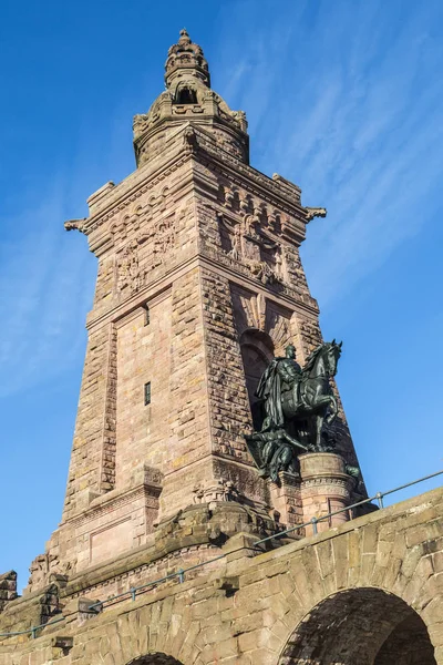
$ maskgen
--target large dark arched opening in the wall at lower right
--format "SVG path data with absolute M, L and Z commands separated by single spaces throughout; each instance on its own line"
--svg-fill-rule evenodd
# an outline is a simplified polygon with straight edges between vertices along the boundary
M 352 589 L 326 598 L 297 626 L 279 665 L 436 665 L 427 628 L 398 596 Z

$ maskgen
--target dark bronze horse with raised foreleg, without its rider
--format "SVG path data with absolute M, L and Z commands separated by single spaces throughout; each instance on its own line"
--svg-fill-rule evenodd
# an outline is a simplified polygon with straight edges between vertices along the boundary
M 302 438 L 311 430 L 311 442 L 316 450 L 322 450 L 321 430 L 323 422 L 331 424 L 337 418 L 338 403 L 329 379 L 337 374 L 341 346 L 333 339 L 317 347 L 307 358 L 302 368 L 300 389 L 296 386 L 281 392 L 281 408 L 285 418 L 292 422 Z M 301 398 L 301 399 L 300 399 Z M 305 434 L 305 437 L 303 437 Z

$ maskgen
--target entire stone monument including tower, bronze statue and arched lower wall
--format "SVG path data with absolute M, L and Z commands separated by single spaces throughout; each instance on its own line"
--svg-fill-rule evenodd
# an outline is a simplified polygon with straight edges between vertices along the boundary
M 326 211 L 185 30 L 165 69 L 65 223 L 97 278 L 64 509 L 0 575 L 0 665 L 443 665 L 443 491 L 369 503 L 299 256 Z

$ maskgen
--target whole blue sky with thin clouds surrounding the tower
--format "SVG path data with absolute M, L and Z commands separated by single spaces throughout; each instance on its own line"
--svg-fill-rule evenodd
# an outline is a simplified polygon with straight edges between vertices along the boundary
M 251 164 L 328 208 L 302 258 L 370 493 L 443 468 L 443 4 L 3 0 L 0 572 L 20 585 L 61 516 L 96 270 L 63 222 L 134 170 L 183 27 Z

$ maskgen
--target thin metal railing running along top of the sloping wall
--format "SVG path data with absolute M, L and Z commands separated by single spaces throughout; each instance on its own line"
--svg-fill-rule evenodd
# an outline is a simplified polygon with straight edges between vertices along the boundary
M 351 505 L 347 505 L 346 508 L 341 508 L 340 510 L 334 510 L 334 511 L 329 512 L 326 515 L 322 515 L 320 518 L 312 518 L 308 522 L 305 522 L 302 524 L 296 524 L 295 526 L 291 526 L 290 529 L 286 529 L 285 531 L 279 531 L 278 533 L 275 533 L 274 535 L 268 535 L 267 538 L 262 538 L 261 540 L 255 541 L 253 543 L 253 545 L 254 546 L 262 545 L 264 543 L 268 543 L 270 541 L 278 540 L 279 538 L 282 538 L 285 535 L 293 533 L 293 531 L 300 531 L 301 529 L 306 529 L 307 526 L 312 526 L 313 535 L 317 535 L 319 522 L 324 522 L 326 520 L 330 520 L 332 516 L 338 515 L 343 512 L 353 511 L 356 508 L 359 508 L 360 505 L 364 505 L 365 503 L 371 503 L 372 501 L 377 501 L 379 504 L 379 508 L 384 508 L 384 503 L 383 503 L 384 497 L 389 497 L 390 494 L 394 494 L 395 492 L 400 492 L 401 490 L 405 490 L 406 488 L 411 488 L 420 482 L 424 482 L 425 480 L 431 480 L 431 478 L 436 478 L 437 475 L 441 475 L 441 474 L 443 474 L 443 470 L 436 471 L 435 473 L 431 473 L 430 475 L 424 475 L 423 478 L 419 478 L 418 480 L 413 480 L 412 482 L 406 482 L 405 484 L 394 488 L 393 490 L 388 490 L 387 492 L 377 492 L 377 494 L 374 494 L 373 497 L 370 497 L 369 499 L 363 499 L 363 501 L 358 501 L 357 503 L 352 503 Z M 175 577 L 178 577 L 178 582 L 183 583 L 185 581 L 186 573 L 197 570 L 199 567 L 204 567 L 205 565 L 208 565 L 209 563 L 214 563 L 215 561 L 218 561 L 220 559 L 225 559 L 228 554 L 233 554 L 234 552 L 237 552 L 241 549 L 243 548 L 239 548 L 238 550 L 231 550 L 230 552 L 219 554 L 218 556 L 215 556 L 214 559 L 208 559 L 207 561 L 204 561 L 202 563 L 196 563 L 195 565 L 192 565 L 186 569 L 179 569 L 175 573 L 169 573 L 168 575 L 165 575 L 164 577 L 159 577 L 158 580 L 154 580 L 153 582 L 147 582 L 146 584 L 142 584 L 141 586 L 131 586 L 131 589 L 128 589 L 127 591 L 125 591 L 123 593 L 119 593 L 114 596 L 111 596 L 110 598 L 104 600 L 104 601 L 99 601 L 96 603 L 92 603 L 92 605 L 87 606 L 87 610 L 89 611 L 96 610 L 99 613 L 103 610 L 105 604 L 112 604 L 112 603 L 114 603 L 114 601 L 119 601 L 120 598 L 123 598 L 125 596 L 126 597 L 131 596 L 131 600 L 135 601 L 138 592 L 143 592 L 146 589 L 150 589 L 153 586 L 158 586 L 158 584 L 162 584 L 162 583 L 167 582 L 168 580 L 173 580 Z M 18 636 L 18 635 L 28 635 L 28 634 L 30 634 L 33 638 L 35 638 L 37 631 L 39 631 L 41 628 L 45 628 L 48 626 L 51 626 L 61 621 L 64 621 L 64 617 L 55 618 L 51 622 L 48 622 L 45 624 L 40 624 L 38 626 L 31 626 L 30 628 L 27 628 L 24 631 L 17 631 L 14 633 L 0 633 L 0 638 L 13 637 L 13 636 Z

